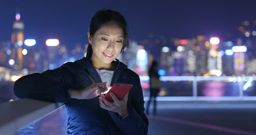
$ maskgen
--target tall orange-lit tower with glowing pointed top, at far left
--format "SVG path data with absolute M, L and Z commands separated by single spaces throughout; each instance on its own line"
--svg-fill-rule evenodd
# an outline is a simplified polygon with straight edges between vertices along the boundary
M 20 13 L 16 14 L 15 19 L 11 34 L 11 59 L 14 60 L 14 64 L 11 66 L 18 70 L 23 68 L 24 23 L 20 21 Z

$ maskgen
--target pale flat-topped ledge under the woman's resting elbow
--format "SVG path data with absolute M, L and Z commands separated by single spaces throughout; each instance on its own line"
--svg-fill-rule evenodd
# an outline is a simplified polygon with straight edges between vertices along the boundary
M 15 134 L 63 105 L 30 98 L 0 104 L 0 134 Z

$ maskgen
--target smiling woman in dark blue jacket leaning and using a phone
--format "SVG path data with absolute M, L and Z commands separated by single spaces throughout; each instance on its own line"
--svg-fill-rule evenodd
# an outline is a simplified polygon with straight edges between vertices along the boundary
M 147 134 L 140 78 L 116 59 L 128 48 L 128 37 L 119 12 L 98 11 L 89 26 L 87 56 L 20 78 L 14 84 L 15 95 L 65 102 L 68 134 Z M 109 102 L 102 92 L 114 83 L 133 84 L 133 88 L 123 100 L 111 95 L 114 102 Z

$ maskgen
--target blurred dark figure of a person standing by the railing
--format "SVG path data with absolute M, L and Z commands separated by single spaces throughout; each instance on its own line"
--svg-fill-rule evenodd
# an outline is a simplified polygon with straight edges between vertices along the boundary
M 149 114 L 149 106 L 151 102 L 151 98 L 154 97 L 154 110 L 153 114 L 156 115 L 156 96 L 161 88 L 161 82 L 159 80 L 160 75 L 158 74 L 158 62 L 153 61 L 152 65 L 149 68 L 149 80 L 150 80 L 150 97 L 147 102 L 146 114 Z

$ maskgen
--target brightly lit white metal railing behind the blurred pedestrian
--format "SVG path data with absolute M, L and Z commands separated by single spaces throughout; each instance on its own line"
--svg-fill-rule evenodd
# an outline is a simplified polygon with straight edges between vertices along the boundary
M 140 76 L 143 81 L 148 81 L 148 76 Z M 244 91 L 250 86 L 250 84 L 256 80 L 256 77 L 203 77 L 203 76 L 162 76 L 160 80 L 166 81 L 192 81 L 192 96 L 159 96 L 156 97 L 158 101 L 256 101 L 256 96 L 244 96 Z M 199 81 L 219 81 L 219 82 L 233 82 L 239 83 L 239 96 L 220 96 L 220 97 L 210 97 L 210 96 L 198 96 L 197 95 L 197 83 Z M 245 83 L 245 84 L 244 84 Z M 148 100 L 146 97 L 145 100 Z

